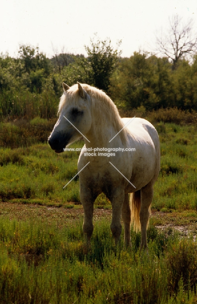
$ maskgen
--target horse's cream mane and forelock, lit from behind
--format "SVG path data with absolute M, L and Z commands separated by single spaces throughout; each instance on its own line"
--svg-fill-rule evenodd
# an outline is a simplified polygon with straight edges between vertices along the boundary
M 81 86 L 85 89 L 88 95 L 90 95 L 93 112 L 97 119 L 100 119 L 100 121 L 106 120 L 106 123 L 111 123 L 118 133 L 124 127 L 124 124 L 121 121 L 118 109 L 112 102 L 111 98 L 109 98 L 105 92 L 95 87 L 86 84 L 81 84 Z M 58 114 L 60 114 L 66 105 L 77 106 L 79 98 L 78 85 L 73 85 L 61 96 Z M 119 133 L 119 136 L 122 142 L 126 143 L 126 128 Z

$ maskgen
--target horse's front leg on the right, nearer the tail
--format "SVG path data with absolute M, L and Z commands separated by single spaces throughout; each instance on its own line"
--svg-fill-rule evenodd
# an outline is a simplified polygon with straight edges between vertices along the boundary
M 115 239 L 115 244 L 117 245 L 120 234 L 122 232 L 121 225 L 121 211 L 124 202 L 124 189 L 116 188 L 116 191 L 113 193 L 112 198 L 112 223 L 111 223 L 111 231 L 113 237 Z

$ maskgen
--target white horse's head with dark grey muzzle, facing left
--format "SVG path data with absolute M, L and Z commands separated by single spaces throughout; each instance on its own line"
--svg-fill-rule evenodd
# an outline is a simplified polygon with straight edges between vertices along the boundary
M 64 148 L 79 139 L 81 134 L 85 136 L 92 124 L 91 98 L 85 89 L 79 83 L 78 87 L 74 85 L 70 88 L 64 82 L 63 89 L 59 119 L 48 139 L 51 148 L 57 153 L 63 152 Z

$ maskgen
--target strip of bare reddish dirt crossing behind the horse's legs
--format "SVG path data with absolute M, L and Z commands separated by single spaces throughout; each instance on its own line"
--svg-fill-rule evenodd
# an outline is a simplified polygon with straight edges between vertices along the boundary
M 72 204 L 72 203 L 71 203 Z M 11 202 L 1 202 L 0 204 L 0 216 L 8 217 L 9 219 L 16 220 L 37 220 L 44 221 L 47 219 L 49 225 L 54 221 L 59 228 L 63 226 L 71 225 L 76 220 L 83 221 L 83 208 L 81 205 L 51 207 L 32 204 L 20 204 Z M 94 210 L 94 221 L 100 221 L 102 219 L 112 218 L 111 209 L 99 209 Z M 152 211 L 150 216 L 150 223 L 152 223 L 157 229 L 165 230 L 166 233 L 171 233 L 172 230 L 176 230 L 181 236 L 189 236 L 193 234 L 196 238 L 197 231 L 197 212 L 183 211 L 183 212 L 158 212 Z

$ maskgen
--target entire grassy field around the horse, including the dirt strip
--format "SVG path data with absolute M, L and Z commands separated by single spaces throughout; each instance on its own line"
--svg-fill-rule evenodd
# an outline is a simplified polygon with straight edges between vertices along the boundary
M 35 137 L 18 142 L 12 128 L 20 126 L 2 123 L 0 132 L 4 126 L 11 131 L 0 150 L 0 303 L 197 302 L 197 127 L 154 125 L 161 172 L 147 256 L 133 230 L 131 249 L 123 247 L 123 233 L 115 247 L 104 195 L 95 202 L 87 247 L 78 179 L 63 189 L 77 173 L 79 152 L 55 154 L 44 143 L 47 128 L 43 143 Z

